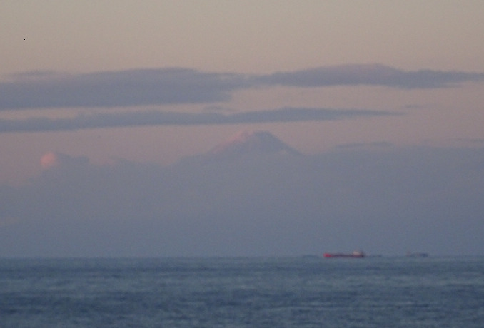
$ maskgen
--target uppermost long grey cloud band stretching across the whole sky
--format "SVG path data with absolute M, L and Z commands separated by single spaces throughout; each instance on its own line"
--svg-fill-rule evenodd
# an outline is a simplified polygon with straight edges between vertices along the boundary
M 228 101 L 247 88 L 293 86 L 388 86 L 448 88 L 484 81 L 484 73 L 402 71 L 355 64 L 281 71 L 266 75 L 203 72 L 191 68 L 145 68 L 69 74 L 17 73 L 0 83 L 0 110 L 21 108 L 119 107 Z

